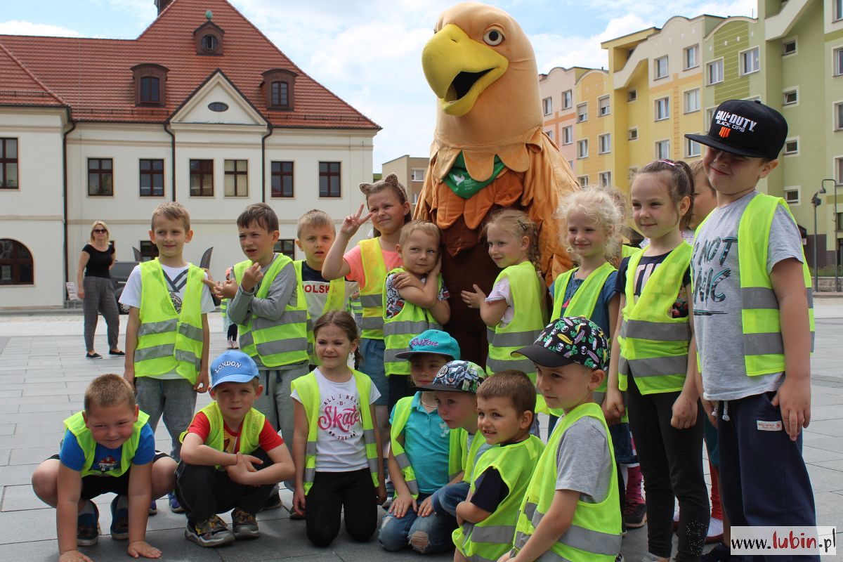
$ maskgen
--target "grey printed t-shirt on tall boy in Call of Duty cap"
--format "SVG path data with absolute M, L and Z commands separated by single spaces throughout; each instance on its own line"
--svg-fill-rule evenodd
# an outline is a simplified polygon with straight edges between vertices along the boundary
M 741 322 L 738 222 L 753 191 L 711 211 L 694 238 L 690 266 L 694 280 L 694 330 L 707 400 L 736 400 L 781 386 L 783 373 L 747 377 Z M 770 227 L 767 273 L 781 260 L 803 261 L 796 223 L 779 206 Z

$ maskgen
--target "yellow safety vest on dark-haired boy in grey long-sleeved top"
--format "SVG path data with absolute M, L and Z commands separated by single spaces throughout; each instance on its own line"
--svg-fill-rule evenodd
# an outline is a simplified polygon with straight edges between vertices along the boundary
M 266 298 L 272 281 L 275 281 L 278 273 L 291 261 L 293 260 L 284 254 L 275 255 L 263 280 L 260 281 L 255 298 Z M 250 265 L 250 260 L 234 265 L 234 279 L 238 285 Z M 263 367 L 282 367 L 308 360 L 308 302 L 304 300 L 301 277 L 298 277 L 295 304 L 291 302 L 287 302 L 282 317 L 277 320 L 251 314 L 246 318 L 246 324 L 239 326 L 240 351 L 253 359 L 260 359 L 258 364 Z

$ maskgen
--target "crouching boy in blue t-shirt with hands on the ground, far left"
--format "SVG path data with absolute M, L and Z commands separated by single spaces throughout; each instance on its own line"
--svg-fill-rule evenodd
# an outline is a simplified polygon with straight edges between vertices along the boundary
M 137 558 L 160 558 L 145 541 L 149 502 L 173 489 L 175 463 L 155 450 L 148 415 L 137 408 L 135 391 L 120 375 L 94 378 L 85 389 L 85 409 L 64 420 L 62 450 L 40 463 L 32 490 L 56 508 L 61 562 L 90 559 L 78 551 L 99 537 L 99 510 L 91 501 L 114 493 L 111 538 L 128 539 Z

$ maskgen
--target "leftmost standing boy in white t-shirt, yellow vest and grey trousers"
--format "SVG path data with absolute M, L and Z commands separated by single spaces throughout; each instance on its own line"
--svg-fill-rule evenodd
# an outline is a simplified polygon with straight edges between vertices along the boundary
M 217 309 L 206 273 L 188 263 L 185 244 L 193 238 L 191 216 L 180 203 L 155 208 L 149 239 L 158 258 L 135 266 L 120 302 L 129 308 L 123 377 L 137 391 L 153 432 L 164 416 L 170 456 L 179 461 L 179 436 L 191 423 L 196 393 L 208 384 L 210 330 L 207 314 Z M 181 513 L 175 495 L 170 510 Z

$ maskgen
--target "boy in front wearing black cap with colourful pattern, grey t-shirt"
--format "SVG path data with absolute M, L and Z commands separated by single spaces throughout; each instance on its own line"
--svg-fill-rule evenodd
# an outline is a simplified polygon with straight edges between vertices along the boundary
M 516 352 L 534 363 L 548 407 L 565 415 L 527 487 L 514 548 L 500 560 L 622 560 L 615 455 L 603 410 L 593 401 L 609 367 L 603 330 L 582 316 L 558 318 Z

